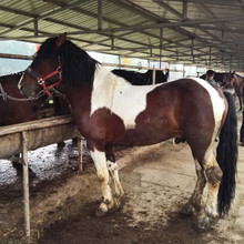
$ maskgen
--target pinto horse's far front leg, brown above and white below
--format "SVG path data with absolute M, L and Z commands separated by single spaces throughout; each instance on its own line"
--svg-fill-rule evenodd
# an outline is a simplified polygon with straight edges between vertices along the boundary
M 106 156 L 108 169 L 114 183 L 115 196 L 116 197 L 123 196 L 124 191 L 119 179 L 119 169 L 115 162 L 115 154 L 114 154 L 113 145 L 108 144 L 105 146 L 105 156 Z

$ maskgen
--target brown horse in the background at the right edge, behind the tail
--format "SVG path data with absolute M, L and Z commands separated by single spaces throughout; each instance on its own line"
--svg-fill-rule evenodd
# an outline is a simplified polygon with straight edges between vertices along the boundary
M 238 98 L 240 109 L 238 111 L 243 110 L 243 87 L 244 87 L 244 78 L 236 74 L 235 72 L 228 73 L 226 79 L 224 80 L 224 85 L 232 85 L 235 90 L 235 95 Z

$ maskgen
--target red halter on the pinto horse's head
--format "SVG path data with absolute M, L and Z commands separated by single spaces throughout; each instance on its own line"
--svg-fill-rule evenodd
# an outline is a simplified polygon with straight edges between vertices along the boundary
M 57 70 L 53 71 L 52 73 L 45 75 L 44 78 L 40 78 L 40 75 L 34 70 L 32 70 L 31 67 L 28 68 L 28 71 L 37 80 L 37 82 L 43 88 L 43 90 L 45 91 L 48 96 L 51 96 L 50 90 L 58 87 L 60 84 L 60 82 L 62 81 L 62 70 L 61 70 L 61 63 L 60 62 L 59 62 L 59 65 L 58 65 Z M 55 74 L 59 74 L 59 80 L 53 84 L 47 85 L 45 81 L 48 79 L 54 77 Z

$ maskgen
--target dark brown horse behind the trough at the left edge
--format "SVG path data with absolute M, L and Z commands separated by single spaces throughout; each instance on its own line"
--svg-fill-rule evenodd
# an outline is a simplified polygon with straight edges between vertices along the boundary
M 20 90 L 18 89 L 18 82 L 22 74 L 23 71 L 0 77 L 0 126 L 39 119 L 42 105 L 47 101 L 45 95 L 40 95 L 40 98 L 30 100 L 21 94 Z M 53 95 L 53 100 L 54 115 L 70 113 L 68 104 L 63 99 Z M 19 157 L 19 154 L 16 155 L 16 157 Z M 12 165 L 17 170 L 22 170 L 20 164 L 16 162 L 16 157 L 12 161 Z

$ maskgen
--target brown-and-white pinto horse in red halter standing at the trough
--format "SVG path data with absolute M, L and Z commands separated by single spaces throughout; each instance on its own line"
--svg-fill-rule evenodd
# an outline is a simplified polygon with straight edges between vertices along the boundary
M 52 75 L 57 71 L 59 75 Z M 21 77 L 19 89 L 26 95 L 34 95 L 59 84 L 63 85 L 77 128 L 87 140 L 101 184 L 103 197 L 95 216 L 118 211 L 124 195 L 114 145 L 150 145 L 172 138 L 185 139 L 196 166 L 196 185 L 182 212 L 192 215 L 201 210 L 195 224 L 201 231 L 227 214 L 235 193 L 237 156 L 236 112 L 231 94 L 224 95 L 221 89 L 199 78 L 132 85 L 65 34 L 41 44 Z M 218 134 L 215 157 L 214 140 Z M 207 201 L 202 207 L 206 184 Z

